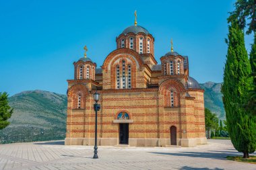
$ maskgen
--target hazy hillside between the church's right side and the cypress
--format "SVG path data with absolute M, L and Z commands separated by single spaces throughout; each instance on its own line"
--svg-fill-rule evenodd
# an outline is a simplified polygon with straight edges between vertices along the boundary
M 201 88 L 205 90 L 205 108 L 208 108 L 213 113 L 217 114 L 220 119 L 226 119 L 224 105 L 222 102 L 222 93 L 220 92 L 222 83 L 209 81 L 200 85 Z

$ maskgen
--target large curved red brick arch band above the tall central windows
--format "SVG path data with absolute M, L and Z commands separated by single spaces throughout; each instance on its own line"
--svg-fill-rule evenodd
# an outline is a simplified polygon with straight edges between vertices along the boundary
M 134 57 L 136 59 L 136 62 L 138 63 L 139 67 L 143 65 L 143 60 L 139 56 L 139 53 L 137 53 L 135 50 L 131 50 L 129 48 L 119 48 L 117 50 L 114 50 L 113 52 L 110 52 L 108 56 L 106 56 L 106 59 L 103 62 L 102 69 L 105 71 L 108 71 L 108 65 L 110 65 L 110 62 L 115 58 L 115 56 L 119 54 L 127 54 L 131 56 L 132 58 Z

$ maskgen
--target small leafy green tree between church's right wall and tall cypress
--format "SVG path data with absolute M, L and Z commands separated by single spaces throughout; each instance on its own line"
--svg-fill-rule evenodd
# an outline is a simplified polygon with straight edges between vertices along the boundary
M 210 131 L 218 129 L 218 117 L 209 109 L 205 108 L 205 129 L 207 131 L 207 138 L 210 138 Z M 211 135 L 213 133 L 211 132 Z

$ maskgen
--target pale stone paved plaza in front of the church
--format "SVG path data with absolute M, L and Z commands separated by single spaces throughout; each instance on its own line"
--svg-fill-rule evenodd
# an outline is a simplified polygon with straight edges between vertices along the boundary
M 63 141 L 0 145 L 0 169 L 256 169 L 256 165 L 227 161 L 238 155 L 230 140 L 208 140 L 194 148 L 65 146 Z

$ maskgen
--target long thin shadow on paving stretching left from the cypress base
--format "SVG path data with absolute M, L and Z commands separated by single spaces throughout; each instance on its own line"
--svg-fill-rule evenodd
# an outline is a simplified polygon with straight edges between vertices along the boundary
M 154 154 L 172 155 L 181 157 L 197 157 L 197 158 L 210 158 L 210 159 L 226 159 L 227 156 L 237 156 L 238 153 L 201 153 L 201 152 L 179 152 L 179 153 L 158 153 L 150 152 Z

